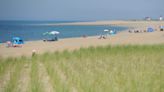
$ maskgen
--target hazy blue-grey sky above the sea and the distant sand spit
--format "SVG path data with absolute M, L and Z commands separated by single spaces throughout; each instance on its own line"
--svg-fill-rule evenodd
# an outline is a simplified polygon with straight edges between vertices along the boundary
M 123 20 L 164 16 L 164 0 L 0 0 L 0 20 Z

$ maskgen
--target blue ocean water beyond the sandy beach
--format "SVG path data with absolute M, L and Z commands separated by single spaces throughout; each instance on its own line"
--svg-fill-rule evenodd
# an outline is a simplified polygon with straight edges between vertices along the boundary
M 21 37 L 25 41 L 51 38 L 43 33 L 59 31 L 60 38 L 95 36 L 103 34 L 104 29 L 122 31 L 127 28 L 118 26 L 79 26 L 79 25 L 47 25 L 55 23 L 69 23 L 76 21 L 0 21 L 0 42 L 11 41 L 12 37 Z

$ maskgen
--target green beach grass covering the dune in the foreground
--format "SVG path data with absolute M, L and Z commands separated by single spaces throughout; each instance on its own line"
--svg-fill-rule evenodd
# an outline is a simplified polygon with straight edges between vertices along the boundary
M 24 82 L 28 85 L 24 88 L 18 81 L 27 63 L 31 64 L 30 80 Z M 1 58 L 0 91 L 16 92 L 17 85 L 22 85 L 25 92 L 47 92 L 39 77 L 39 64 L 43 64 L 47 72 L 43 76 L 49 78 L 53 92 L 164 92 L 164 45 L 99 46 Z

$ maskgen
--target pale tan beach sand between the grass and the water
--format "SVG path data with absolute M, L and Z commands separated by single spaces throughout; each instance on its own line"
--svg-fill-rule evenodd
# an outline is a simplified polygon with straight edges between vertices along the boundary
M 38 54 L 42 54 L 45 52 L 75 50 L 89 46 L 164 44 L 164 31 L 159 31 L 159 26 L 164 26 L 164 21 L 96 21 L 58 25 L 112 25 L 125 26 L 129 28 L 128 30 L 146 30 L 150 26 L 155 28 L 156 31 L 129 33 L 128 30 L 125 30 L 114 36 L 108 36 L 107 39 L 98 39 L 99 36 L 93 36 L 87 38 L 59 39 L 56 42 L 30 41 L 25 42 L 22 47 L 16 48 L 6 48 L 5 44 L 0 44 L 0 57 L 31 56 L 33 50 L 36 50 Z

